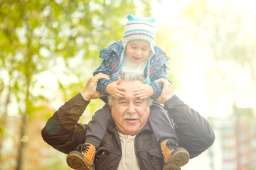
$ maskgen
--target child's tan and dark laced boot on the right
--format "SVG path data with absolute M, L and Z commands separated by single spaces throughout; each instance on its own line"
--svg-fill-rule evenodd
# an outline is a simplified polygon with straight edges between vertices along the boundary
M 169 140 L 161 142 L 161 152 L 166 163 L 163 167 L 164 170 L 179 170 L 181 166 L 188 163 L 189 154 L 183 147 L 174 145 Z

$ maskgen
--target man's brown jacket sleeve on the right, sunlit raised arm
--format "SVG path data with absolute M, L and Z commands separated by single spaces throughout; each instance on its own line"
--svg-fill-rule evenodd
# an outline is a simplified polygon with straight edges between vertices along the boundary
M 213 145 L 215 134 L 208 121 L 176 95 L 164 103 L 164 108 L 176 124 L 179 147 L 187 149 L 191 158 Z

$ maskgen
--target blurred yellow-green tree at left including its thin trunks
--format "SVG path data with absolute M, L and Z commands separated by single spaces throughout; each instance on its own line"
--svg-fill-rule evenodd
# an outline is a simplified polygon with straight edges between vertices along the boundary
M 23 169 L 27 121 L 33 121 L 34 109 L 43 111 L 34 105 L 51 97 L 33 94 L 46 89 L 45 85 L 36 88 L 41 75 L 53 74 L 65 99 L 78 93 L 85 75 L 91 75 L 100 63 L 100 49 L 122 38 L 127 14 L 149 16 L 150 3 L 146 0 L 0 1 L 0 108 L 4 108 L 0 113 L 3 115 L 0 146 L 5 137 L 8 108 L 16 103 L 13 106 L 22 117 L 16 169 Z M 71 79 L 74 77 L 75 81 Z

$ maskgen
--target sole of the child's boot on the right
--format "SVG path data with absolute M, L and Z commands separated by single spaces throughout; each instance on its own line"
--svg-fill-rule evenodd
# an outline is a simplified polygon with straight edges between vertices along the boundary
M 186 150 L 180 150 L 171 156 L 170 161 L 166 164 L 163 170 L 180 170 L 181 166 L 187 164 L 189 161 L 189 154 Z

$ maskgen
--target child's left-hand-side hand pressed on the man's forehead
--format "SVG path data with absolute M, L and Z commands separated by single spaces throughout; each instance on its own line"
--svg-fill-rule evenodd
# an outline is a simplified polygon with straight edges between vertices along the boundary
M 119 77 L 117 81 L 114 81 L 108 84 L 106 87 L 107 93 L 113 96 L 114 98 L 122 98 L 122 96 L 124 96 L 125 94 L 124 93 L 125 89 L 122 86 L 118 86 L 120 81 L 121 81 L 121 78 Z

